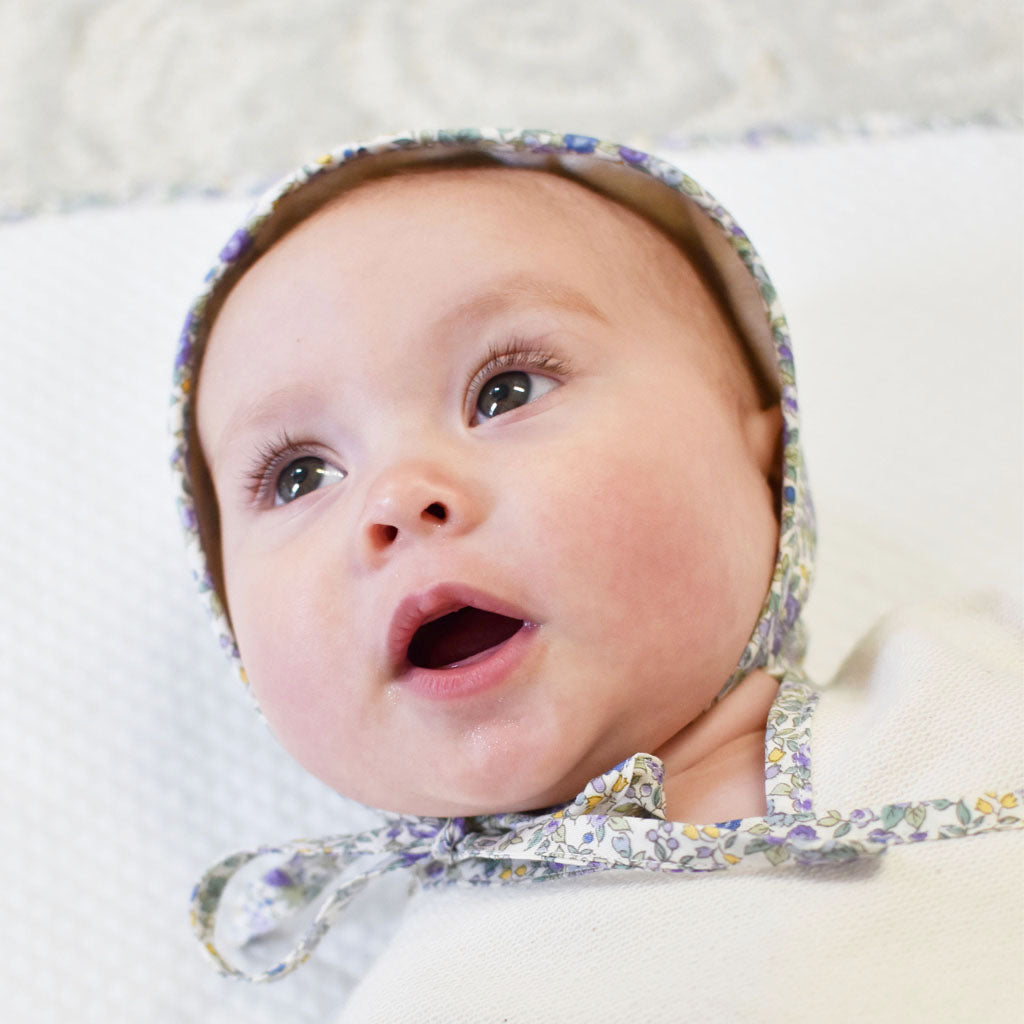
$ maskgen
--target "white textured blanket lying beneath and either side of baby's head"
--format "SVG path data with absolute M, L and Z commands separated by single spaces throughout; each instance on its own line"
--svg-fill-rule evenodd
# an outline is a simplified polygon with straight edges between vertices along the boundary
M 669 154 L 666 154 L 669 156 Z M 825 678 L 894 603 L 1022 582 L 1022 136 L 676 157 L 790 313 L 821 525 Z M 356 826 L 229 678 L 183 564 L 168 381 L 229 200 L 0 227 L 0 1016 L 324 1020 L 386 931 L 372 894 L 292 978 L 219 980 L 188 891 L 234 848 Z

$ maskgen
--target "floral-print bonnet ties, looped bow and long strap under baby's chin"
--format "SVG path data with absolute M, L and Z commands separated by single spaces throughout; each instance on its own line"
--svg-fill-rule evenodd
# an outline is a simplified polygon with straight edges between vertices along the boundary
M 269 981 L 308 959 L 371 881 L 399 868 L 432 886 L 502 884 L 610 868 L 705 872 L 740 861 L 772 867 L 835 864 L 899 844 L 1024 827 L 1019 810 L 1024 788 L 815 811 L 805 744 L 769 729 L 766 762 L 770 788 L 763 817 L 705 825 L 667 820 L 664 765 L 650 754 L 637 754 L 592 779 L 571 803 L 541 813 L 395 816 L 357 835 L 237 853 L 210 868 L 193 892 L 193 928 L 222 974 Z M 250 972 L 229 963 L 218 948 L 225 897 L 234 911 L 240 950 L 261 938 L 283 932 L 290 936 L 308 924 L 279 963 Z

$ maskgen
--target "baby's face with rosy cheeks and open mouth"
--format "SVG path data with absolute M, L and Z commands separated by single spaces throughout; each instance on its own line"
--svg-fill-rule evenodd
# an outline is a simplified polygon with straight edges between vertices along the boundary
M 731 344 L 671 243 L 539 172 L 373 183 L 278 243 L 198 412 L 286 749 L 364 803 L 475 814 L 571 799 L 698 716 L 777 540 L 777 411 Z

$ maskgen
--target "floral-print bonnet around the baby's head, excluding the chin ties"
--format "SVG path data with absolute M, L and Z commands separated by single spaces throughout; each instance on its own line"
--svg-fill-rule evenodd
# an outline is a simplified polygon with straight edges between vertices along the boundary
M 799 623 L 810 583 L 814 520 L 799 446 L 793 353 L 785 317 L 760 256 L 742 228 L 693 178 L 666 161 L 589 135 L 460 130 L 391 135 L 342 145 L 271 187 L 221 249 L 194 300 L 174 365 L 171 429 L 177 502 L 194 574 L 222 649 L 245 681 L 220 579 L 216 500 L 195 423 L 203 350 L 228 292 L 278 240 L 336 196 L 406 168 L 481 165 L 559 174 L 630 207 L 662 228 L 702 272 L 729 311 L 753 365 L 781 402 L 780 535 L 775 569 L 757 626 L 719 698 L 752 670 L 781 676 L 799 666 Z

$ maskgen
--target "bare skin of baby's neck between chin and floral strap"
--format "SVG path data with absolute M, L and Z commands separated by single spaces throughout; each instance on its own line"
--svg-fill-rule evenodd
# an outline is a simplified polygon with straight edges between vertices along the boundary
M 653 753 L 665 763 L 665 813 L 707 823 L 759 817 L 765 802 L 765 723 L 778 682 L 756 669 Z

